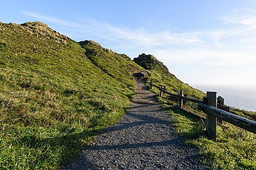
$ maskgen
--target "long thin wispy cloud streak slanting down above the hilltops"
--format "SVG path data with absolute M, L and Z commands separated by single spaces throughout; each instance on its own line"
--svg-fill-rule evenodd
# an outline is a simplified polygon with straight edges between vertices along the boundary
M 104 37 L 111 40 L 126 40 L 148 46 L 165 46 L 164 44 L 195 44 L 201 43 L 197 36 L 190 33 L 147 32 L 144 28 L 127 29 L 118 28 L 108 23 L 100 23 L 90 18 L 81 18 L 80 23 L 67 22 L 52 16 L 35 14 L 34 12 L 23 11 L 25 15 L 43 20 L 49 23 L 64 25 L 73 28 L 74 31 L 92 33 L 94 36 Z M 160 40 L 160 41 L 159 41 Z

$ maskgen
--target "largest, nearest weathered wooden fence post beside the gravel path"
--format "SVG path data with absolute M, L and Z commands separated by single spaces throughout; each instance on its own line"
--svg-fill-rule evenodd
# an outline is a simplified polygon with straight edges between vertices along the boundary
M 217 92 L 207 92 L 207 104 L 217 108 Z M 208 133 L 208 139 L 216 141 L 217 118 L 206 113 L 205 126 Z

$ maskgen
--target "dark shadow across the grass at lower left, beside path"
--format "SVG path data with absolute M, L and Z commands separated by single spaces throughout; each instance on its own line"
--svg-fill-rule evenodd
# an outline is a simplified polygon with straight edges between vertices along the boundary
M 16 142 L 16 145 L 26 145 L 28 148 L 38 151 L 36 164 L 45 162 L 49 155 L 57 156 L 57 165 L 67 165 L 72 159 L 79 156 L 80 150 L 88 146 L 96 135 L 101 134 L 103 128 L 86 129 L 80 133 L 63 133 L 55 137 L 39 138 L 38 134 L 28 133 Z M 55 159 L 53 156 L 52 159 Z M 55 161 L 56 163 L 56 161 Z M 36 166 L 31 164 L 31 168 Z M 39 163 L 40 164 L 40 163 Z M 56 166 L 56 164 L 52 165 Z M 1 168 L 0 168 L 1 169 Z

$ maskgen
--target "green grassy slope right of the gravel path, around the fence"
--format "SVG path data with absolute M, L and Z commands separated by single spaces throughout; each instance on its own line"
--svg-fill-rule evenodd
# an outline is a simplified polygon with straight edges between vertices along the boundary
M 138 58 L 134 61 L 138 62 Z M 143 58 L 141 61 L 147 61 L 147 59 Z M 149 66 L 147 69 L 149 69 L 150 77 L 147 79 L 147 83 L 152 78 L 154 84 L 166 86 L 167 91 L 174 94 L 183 89 L 184 94 L 193 98 L 202 99 L 205 96 L 203 92 L 184 84 L 174 75 L 167 73 L 161 62 L 151 61 L 150 63 L 150 65 L 144 64 Z M 156 95 L 159 94 L 159 90 L 156 88 L 153 88 L 152 91 Z M 174 107 L 177 101 L 175 102 L 167 95 L 156 98 L 173 118 L 176 132 L 187 137 L 186 143 L 188 145 L 199 148 L 201 160 L 209 164 L 212 169 L 256 169 L 256 134 L 224 122 L 224 124 L 217 126 L 217 141 L 210 141 L 202 133 L 204 124 L 201 120 Z M 185 109 L 205 116 L 203 112 L 198 111 L 195 104 L 187 102 Z M 230 112 L 256 121 L 255 112 L 233 108 L 230 109 Z

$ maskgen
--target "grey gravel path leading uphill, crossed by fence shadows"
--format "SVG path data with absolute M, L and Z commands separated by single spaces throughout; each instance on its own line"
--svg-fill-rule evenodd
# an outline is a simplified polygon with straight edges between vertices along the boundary
M 80 158 L 60 169 L 208 169 L 197 150 L 174 135 L 170 116 L 156 103 L 142 79 L 118 124 L 106 128 Z

